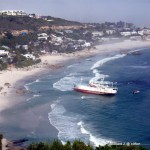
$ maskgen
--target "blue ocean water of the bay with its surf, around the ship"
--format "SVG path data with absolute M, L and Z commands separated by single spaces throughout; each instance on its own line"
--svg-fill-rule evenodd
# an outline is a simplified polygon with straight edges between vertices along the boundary
M 118 87 L 115 96 L 73 90 L 105 78 Z M 78 60 L 61 70 L 28 81 L 32 91 L 3 112 L 1 131 L 29 141 L 81 139 L 95 146 L 108 143 L 150 144 L 150 49 L 141 55 L 106 54 Z M 133 90 L 140 90 L 133 94 Z

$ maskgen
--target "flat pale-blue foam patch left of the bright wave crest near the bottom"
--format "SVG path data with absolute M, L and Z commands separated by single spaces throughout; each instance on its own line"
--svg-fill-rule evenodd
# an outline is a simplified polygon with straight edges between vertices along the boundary
M 82 139 L 82 133 L 77 125 L 78 115 L 67 115 L 66 109 L 61 104 L 52 104 L 52 111 L 48 114 L 50 123 L 58 130 L 58 138 L 66 142 Z

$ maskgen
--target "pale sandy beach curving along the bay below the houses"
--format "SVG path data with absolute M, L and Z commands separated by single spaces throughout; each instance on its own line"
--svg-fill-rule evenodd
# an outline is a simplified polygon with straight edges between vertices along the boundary
M 0 112 L 14 105 L 15 97 L 17 96 L 16 83 L 24 78 L 34 76 L 45 69 L 53 70 L 63 67 L 63 63 L 71 59 L 87 58 L 96 54 L 118 51 L 124 53 L 131 49 L 140 49 L 149 47 L 148 41 L 125 41 L 114 44 L 99 45 L 96 49 L 82 50 L 71 54 L 55 54 L 41 56 L 42 62 L 35 66 L 23 69 L 10 68 L 6 71 L 0 71 Z M 0 116 L 0 122 L 2 118 Z

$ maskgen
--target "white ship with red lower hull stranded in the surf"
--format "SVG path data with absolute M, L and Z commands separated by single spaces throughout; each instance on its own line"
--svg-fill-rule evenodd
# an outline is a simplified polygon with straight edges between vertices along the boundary
M 88 85 L 75 84 L 74 90 L 87 93 L 87 94 L 97 94 L 97 95 L 115 95 L 117 94 L 118 88 L 105 84 L 103 81 L 91 82 Z

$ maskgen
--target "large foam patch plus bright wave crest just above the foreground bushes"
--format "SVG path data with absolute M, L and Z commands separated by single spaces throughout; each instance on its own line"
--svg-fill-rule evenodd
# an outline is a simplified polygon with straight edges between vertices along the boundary
M 80 139 L 85 143 L 91 142 L 95 146 L 114 143 L 112 140 L 94 136 L 85 128 L 85 124 L 81 121 L 83 117 L 67 113 L 60 101 L 52 104 L 51 109 L 52 111 L 48 114 L 49 121 L 58 130 L 58 138 L 63 143 L 75 139 Z

